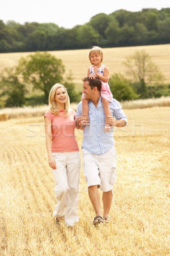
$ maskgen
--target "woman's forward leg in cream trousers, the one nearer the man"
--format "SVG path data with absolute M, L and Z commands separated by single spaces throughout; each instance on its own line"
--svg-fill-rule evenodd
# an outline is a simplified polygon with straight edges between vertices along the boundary
M 79 151 L 67 152 L 67 179 L 69 192 L 67 196 L 67 206 L 65 209 L 65 224 L 72 226 L 79 221 L 78 198 L 80 185 L 81 160 Z

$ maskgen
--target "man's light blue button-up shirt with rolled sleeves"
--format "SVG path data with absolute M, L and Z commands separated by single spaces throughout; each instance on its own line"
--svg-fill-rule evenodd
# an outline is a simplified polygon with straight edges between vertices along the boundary
M 112 117 L 115 116 L 116 120 L 124 119 L 127 124 L 127 117 L 122 111 L 122 107 L 116 99 L 109 103 Z M 105 127 L 105 112 L 100 97 L 97 108 L 93 102 L 88 102 L 89 112 L 88 118 L 90 125 L 86 125 L 83 130 L 82 148 L 91 154 L 103 154 L 113 147 L 115 144 L 113 138 L 113 126 L 110 132 L 104 132 Z M 82 102 L 77 106 L 76 117 L 82 114 Z

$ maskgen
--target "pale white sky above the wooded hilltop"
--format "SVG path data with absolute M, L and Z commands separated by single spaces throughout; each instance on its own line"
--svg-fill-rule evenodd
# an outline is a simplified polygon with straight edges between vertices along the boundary
M 99 13 L 109 15 L 120 9 L 138 12 L 147 8 L 170 8 L 170 0 L 0 0 L 0 20 L 55 23 L 71 29 Z

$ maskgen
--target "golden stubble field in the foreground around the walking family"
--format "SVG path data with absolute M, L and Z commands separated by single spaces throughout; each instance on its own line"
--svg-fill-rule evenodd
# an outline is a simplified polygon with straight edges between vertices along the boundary
M 97 229 L 83 172 L 79 224 L 70 230 L 52 217 L 43 116 L 0 122 L 1 256 L 170 255 L 170 107 L 125 114 L 128 125 L 114 128 L 113 221 Z M 75 134 L 81 148 L 82 134 Z

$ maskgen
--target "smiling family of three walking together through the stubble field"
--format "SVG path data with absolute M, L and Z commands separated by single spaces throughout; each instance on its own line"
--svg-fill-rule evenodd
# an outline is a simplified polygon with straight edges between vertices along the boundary
M 50 108 L 45 113 L 48 162 L 56 181 L 54 192 L 57 205 L 53 216 L 57 224 L 65 221 L 68 227 L 79 221 L 81 159 L 74 129 L 83 130 L 82 166 L 95 211 L 93 224 L 97 226 L 111 221 L 109 212 L 116 180 L 113 126 L 127 124 L 121 105 L 113 99 L 110 91 L 109 70 L 102 65 L 102 49 L 93 47 L 89 60 L 92 66 L 83 79 L 82 101 L 77 106 L 77 113 L 70 108 L 69 96 L 62 84 L 54 84 L 51 88 Z M 98 189 L 102 191 L 103 212 Z

